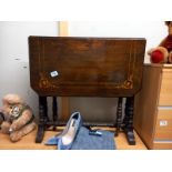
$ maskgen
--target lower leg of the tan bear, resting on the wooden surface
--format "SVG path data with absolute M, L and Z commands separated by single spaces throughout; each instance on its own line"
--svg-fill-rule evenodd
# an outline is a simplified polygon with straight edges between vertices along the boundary
M 23 127 L 21 130 L 19 131 L 14 131 L 10 134 L 10 139 L 12 142 L 17 142 L 19 141 L 22 136 L 27 135 L 28 133 L 30 133 L 32 130 L 36 129 L 36 123 L 32 122 L 26 127 Z

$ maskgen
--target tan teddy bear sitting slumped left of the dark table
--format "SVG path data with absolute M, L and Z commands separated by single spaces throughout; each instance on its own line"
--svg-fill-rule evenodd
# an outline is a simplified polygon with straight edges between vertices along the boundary
M 7 94 L 2 99 L 1 132 L 9 134 L 12 142 L 36 129 L 31 108 L 18 94 Z

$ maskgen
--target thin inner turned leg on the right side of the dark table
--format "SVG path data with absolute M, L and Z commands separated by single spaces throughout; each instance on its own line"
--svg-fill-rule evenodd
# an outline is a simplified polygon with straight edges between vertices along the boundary
M 119 131 L 121 129 L 121 123 L 122 123 L 122 98 L 119 98 L 118 108 L 117 108 L 117 130 L 115 130 L 115 136 L 119 135 Z

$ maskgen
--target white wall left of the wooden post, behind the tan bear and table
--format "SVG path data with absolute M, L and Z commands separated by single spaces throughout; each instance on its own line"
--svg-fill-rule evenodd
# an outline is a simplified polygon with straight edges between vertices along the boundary
M 57 22 L 0 22 L 0 107 L 7 93 L 18 93 L 38 113 L 38 97 L 30 89 L 29 36 L 58 36 Z

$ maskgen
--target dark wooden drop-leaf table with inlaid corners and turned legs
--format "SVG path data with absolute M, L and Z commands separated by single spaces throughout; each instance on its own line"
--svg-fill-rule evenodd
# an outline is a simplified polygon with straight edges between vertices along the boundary
M 60 123 L 57 97 L 115 97 L 115 134 L 122 129 L 129 144 L 135 144 L 133 103 L 141 89 L 144 51 L 144 39 L 29 37 L 30 82 L 39 95 L 36 142 L 42 141 L 49 125 Z M 52 120 L 47 97 L 53 100 Z M 123 98 L 127 102 L 122 121 Z

